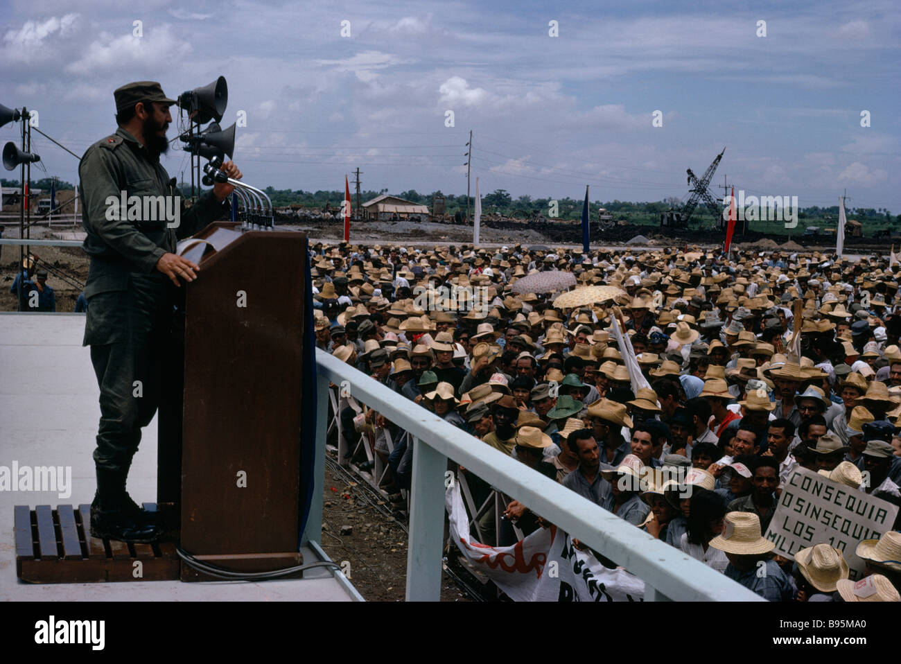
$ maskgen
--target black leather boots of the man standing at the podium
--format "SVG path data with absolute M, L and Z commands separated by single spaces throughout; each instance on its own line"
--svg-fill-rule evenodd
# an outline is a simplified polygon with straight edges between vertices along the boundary
M 122 470 L 97 468 L 97 492 L 91 503 L 91 535 L 99 539 L 148 543 L 159 540 L 156 525 L 141 517 L 125 491 Z

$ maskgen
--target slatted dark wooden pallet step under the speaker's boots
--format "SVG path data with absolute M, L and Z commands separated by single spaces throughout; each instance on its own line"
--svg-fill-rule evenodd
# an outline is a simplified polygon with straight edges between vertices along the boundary
M 155 511 L 156 505 L 144 508 Z M 30 583 L 172 581 L 179 578 L 174 542 L 152 544 L 91 536 L 91 506 L 14 508 L 15 566 Z

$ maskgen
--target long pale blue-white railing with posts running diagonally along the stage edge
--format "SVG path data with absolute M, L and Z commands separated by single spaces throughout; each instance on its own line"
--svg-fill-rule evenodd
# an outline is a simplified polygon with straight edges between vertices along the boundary
M 375 408 L 414 436 L 406 599 L 437 601 L 441 594 L 445 472 L 448 458 L 492 487 L 555 523 L 587 546 L 642 578 L 648 601 L 763 601 L 745 587 L 666 542 L 626 523 L 582 496 L 469 433 L 414 405 L 371 377 L 323 350 L 316 350 L 317 407 L 313 505 L 305 541 L 320 542 L 325 433 L 329 384 L 348 381 L 354 398 Z

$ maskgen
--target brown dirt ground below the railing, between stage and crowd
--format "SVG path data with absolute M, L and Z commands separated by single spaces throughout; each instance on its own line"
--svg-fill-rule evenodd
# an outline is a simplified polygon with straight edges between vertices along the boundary
M 349 482 L 326 464 L 323 550 L 342 566 L 350 563 L 350 583 L 368 602 L 403 602 L 407 533 L 371 504 L 379 501 L 361 482 Z M 379 506 L 390 510 L 387 501 L 381 502 Z M 469 601 L 446 573 L 441 577 L 441 601 Z

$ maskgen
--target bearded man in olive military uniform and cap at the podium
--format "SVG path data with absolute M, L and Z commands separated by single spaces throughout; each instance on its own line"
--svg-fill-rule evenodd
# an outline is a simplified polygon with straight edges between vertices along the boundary
M 141 428 L 153 418 L 164 388 L 159 369 L 173 322 L 172 285 L 179 286 L 179 277 L 193 281 L 199 271 L 175 253 L 176 242 L 221 218 L 233 187 L 216 184 L 187 210 L 180 210 L 178 199 L 176 223 L 158 214 L 134 219 L 148 209 L 146 197 L 177 196 L 175 179 L 159 163 L 168 150 L 168 107 L 176 102 L 153 81 L 122 86 L 114 98 L 118 130 L 88 148 L 78 166 L 84 248 L 91 257 L 84 345 L 91 347 L 101 412 L 91 534 L 146 542 L 159 538 L 159 526 L 134 504 L 125 481 Z M 231 161 L 223 171 L 241 177 Z M 123 196 L 138 196 L 139 214 L 132 214 L 131 203 L 129 214 L 121 214 Z M 175 199 L 166 200 L 171 205 Z

